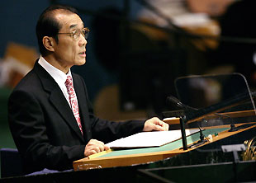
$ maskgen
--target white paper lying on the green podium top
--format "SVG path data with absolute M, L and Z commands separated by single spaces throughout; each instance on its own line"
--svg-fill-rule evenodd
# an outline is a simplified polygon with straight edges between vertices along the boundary
M 199 132 L 199 129 L 186 129 L 186 135 Z M 110 148 L 149 148 L 159 147 L 182 138 L 181 130 L 140 132 L 126 138 L 117 139 L 106 145 Z

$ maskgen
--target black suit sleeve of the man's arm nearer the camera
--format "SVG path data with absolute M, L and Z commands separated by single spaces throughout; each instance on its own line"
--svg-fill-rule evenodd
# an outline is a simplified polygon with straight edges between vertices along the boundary
M 8 120 L 21 157 L 29 162 L 33 171 L 40 171 L 45 167 L 52 170 L 72 168 L 74 160 L 83 158 L 85 146 L 51 145 L 43 114 L 35 96 L 27 92 L 12 92 L 8 101 Z

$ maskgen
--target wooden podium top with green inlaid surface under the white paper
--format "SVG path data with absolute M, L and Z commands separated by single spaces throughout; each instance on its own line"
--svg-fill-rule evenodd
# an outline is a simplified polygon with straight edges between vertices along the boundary
M 256 124 L 252 122 L 251 124 Z M 235 124 L 236 126 L 243 124 Z M 221 125 L 214 127 L 204 128 L 203 134 L 207 137 L 211 134 L 212 139 L 210 142 L 206 142 L 201 146 L 205 146 L 209 143 L 214 143 L 220 139 L 230 137 L 234 134 L 239 134 L 245 130 L 255 128 L 256 125 L 251 125 L 245 129 L 239 129 L 235 132 L 229 132 L 230 125 Z M 199 140 L 199 134 L 192 134 L 187 137 L 187 144 L 195 143 Z M 197 148 L 201 147 L 198 146 Z M 159 160 L 164 160 L 168 157 L 173 157 L 177 154 L 192 151 L 195 148 L 188 148 L 183 151 L 182 139 L 179 139 L 173 143 L 168 143 L 164 146 L 158 148 L 135 148 L 135 149 L 125 149 L 125 150 L 115 150 L 111 152 L 99 152 L 92 157 L 85 157 L 78 161 L 73 162 L 73 168 L 75 171 L 78 171 L 78 167 L 82 165 L 87 165 L 87 168 L 90 167 L 125 167 L 135 164 L 147 163 L 147 162 L 156 162 Z

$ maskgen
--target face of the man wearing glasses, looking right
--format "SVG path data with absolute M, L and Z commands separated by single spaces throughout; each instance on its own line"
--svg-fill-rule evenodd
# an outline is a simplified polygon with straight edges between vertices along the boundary
M 59 33 L 72 33 L 73 30 L 83 29 L 83 21 L 77 14 L 60 13 L 55 17 L 61 25 Z M 86 62 L 87 40 L 82 34 L 77 39 L 69 34 L 59 34 L 58 38 L 59 42 L 55 44 L 54 57 L 61 68 L 69 69 L 73 65 L 83 65 Z

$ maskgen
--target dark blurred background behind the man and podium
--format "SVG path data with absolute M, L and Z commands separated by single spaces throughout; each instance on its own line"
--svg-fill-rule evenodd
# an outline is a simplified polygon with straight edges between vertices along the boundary
M 91 30 L 87 63 L 72 68 L 97 116 L 162 118 L 177 77 L 242 73 L 254 88 L 254 0 L 1 1 L 0 148 L 15 148 L 7 99 L 39 57 L 36 21 L 50 4 L 75 7 Z

